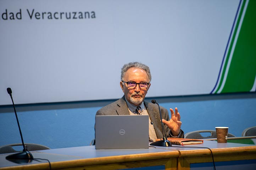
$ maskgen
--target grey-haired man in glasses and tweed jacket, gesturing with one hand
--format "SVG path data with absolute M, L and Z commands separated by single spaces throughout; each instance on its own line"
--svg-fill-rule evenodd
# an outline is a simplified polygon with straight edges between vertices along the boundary
M 163 138 L 162 125 L 157 104 L 144 101 L 149 90 L 151 73 L 148 66 L 139 62 L 125 64 L 121 71 L 120 86 L 124 96 L 97 111 L 96 115 L 149 115 L 149 138 L 155 141 Z M 169 119 L 167 109 L 160 107 L 166 137 L 184 138 L 180 129 L 182 122 L 175 108 Z M 131 125 L 132 126 L 132 125 Z

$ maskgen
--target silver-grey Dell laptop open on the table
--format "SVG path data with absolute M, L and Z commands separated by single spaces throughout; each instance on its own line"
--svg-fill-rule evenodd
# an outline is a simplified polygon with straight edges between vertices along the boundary
M 95 148 L 149 148 L 149 116 L 95 116 Z

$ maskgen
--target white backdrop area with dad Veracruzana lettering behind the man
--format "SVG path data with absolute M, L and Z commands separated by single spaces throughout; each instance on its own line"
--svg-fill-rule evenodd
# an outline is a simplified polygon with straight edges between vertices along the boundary
M 148 97 L 209 94 L 238 4 L 1 0 L 0 105 L 11 104 L 7 87 L 16 104 L 118 98 L 121 67 L 131 61 L 151 68 Z M 69 12 L 83 19 L 66 19 Z

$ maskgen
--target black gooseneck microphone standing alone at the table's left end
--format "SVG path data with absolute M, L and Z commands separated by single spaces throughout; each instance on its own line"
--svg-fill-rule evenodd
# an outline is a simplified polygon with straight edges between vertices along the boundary
M 7 92 L 8 94 L 11 96 L 11 99 L 12 99 L 12 89 L 10 87 L 7 88 Z M 30 162 L 30 160 L 33 159 L 33 156 L 32 154 L 26 150 L 26 147 L 24 145 L 24 141 L 23 141 L 23 137 L 22 137 L 22 133 L 21 133 L 21 127 L 20 127 L 20 123 L 19 123 L 19 120 L 18 120 L 18 116 L 17 116 L 17 112 L 16 112 L 16 109 L 15 109 L 15 105 L 14 105 L 14 102 L 13 102 L 13 99 L 12 99 L 12 105 L 13 105 L 13 109 L 14 109 L 14 112 L 15 112 L 15 116 L 16 116 L 16 120 L 17 120 L 17 123 L 18 123 L 18 127 L 19 127 L 19 130 L 20 130 L 20 135 L 21 135 L 21 141 L 22 141 L 22 146 L 23 146 L 23 152 L 19 152 L 19 153 L 15 153 L 15 154 L 11 154 L 9 156 L 6 156 L 5 158 L 8 160 L 8 159 L 23 159 L 23 160 L 28 160 L 27 162 Z M 24 163 L 24 162 L 22 162 Z

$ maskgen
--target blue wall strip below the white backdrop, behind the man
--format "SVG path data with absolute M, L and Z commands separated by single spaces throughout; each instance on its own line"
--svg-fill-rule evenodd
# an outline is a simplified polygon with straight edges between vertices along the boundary
M 156 100 L 167 109 L 178 108 L 185 133 L 228 126 L 229 133 L 241 136 L 245 128 L 256 126 L 255 93 L 252 97 L 234 99 L 231 95 L 228 99 L 172 97 Z M 60 104 L 60 109 L 47 109 L 54 104 L 45 104 L 41 110 L 31 109 L 33 106 L 17 106 L 24 142 L 38 143 L 50 148 L 89 145 L 94 138 L 95 113 L 110 102 L 112 101 L 102 104 L 91 101 L 86 102 L 84 107 L 73 108 L 65 108 L 68 105 L 65 103 Z M 0 145 L 21 142 L 13 108 L 8 107 L 7 111 L 0 107 Z

